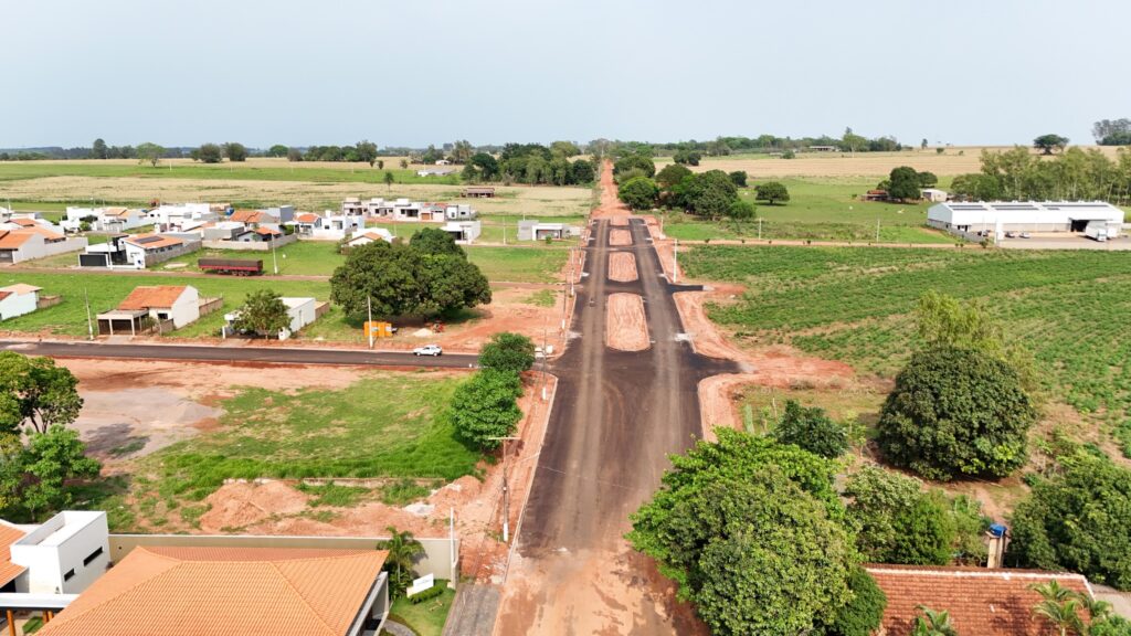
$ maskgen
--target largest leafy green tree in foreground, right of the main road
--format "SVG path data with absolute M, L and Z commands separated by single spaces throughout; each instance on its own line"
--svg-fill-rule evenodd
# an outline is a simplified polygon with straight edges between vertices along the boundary
M 677 488 L 665 479 L 628 539 L 713 634 L 793 636 L 832 622 L 851 600 L 851 538 L 776 466 Z

